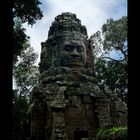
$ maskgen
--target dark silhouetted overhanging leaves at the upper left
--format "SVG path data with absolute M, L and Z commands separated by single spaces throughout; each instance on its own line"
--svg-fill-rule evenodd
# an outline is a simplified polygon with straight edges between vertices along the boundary
M 14 0 L 13 1 L 13 64 L 17 62 L 17 57 L 20 56 L 22 50 L 26 49 L 26 42 L 29 36 L 25 34 L 25 28 L 22 24 L 27 22 L 28 25 L 33 25 L 36 20 L 43 17 L 39 5 L 39 0 Z

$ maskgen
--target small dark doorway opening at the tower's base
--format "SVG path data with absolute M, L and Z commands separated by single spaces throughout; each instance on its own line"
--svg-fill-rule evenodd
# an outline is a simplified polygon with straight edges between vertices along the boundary
M 76 128 L 74 131 L 74 140 L 88 140 L 88 131 Z

